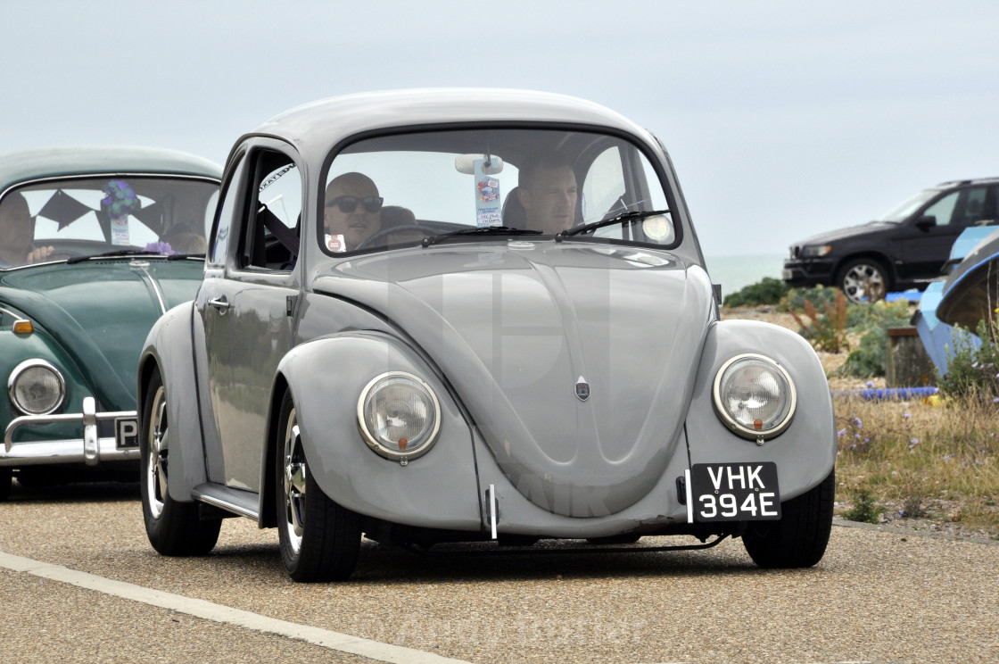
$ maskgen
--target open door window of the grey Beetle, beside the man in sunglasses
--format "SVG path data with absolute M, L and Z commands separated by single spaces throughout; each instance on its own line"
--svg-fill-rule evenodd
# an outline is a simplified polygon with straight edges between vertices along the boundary
M 243 215 L 240 267 L 291 270 L 299 254 L 302 176 L 282 152 L 260 150 L 250 162 L 252 200 Z

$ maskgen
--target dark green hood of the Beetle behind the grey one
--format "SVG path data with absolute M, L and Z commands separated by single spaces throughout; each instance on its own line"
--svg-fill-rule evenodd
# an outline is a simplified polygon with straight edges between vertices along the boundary
M 90 260 L 0 275 L 0 302 L 59 344 L 107 410 L 135 408 L 143 341 L 167 309 L 194 298 L 204 263 Z

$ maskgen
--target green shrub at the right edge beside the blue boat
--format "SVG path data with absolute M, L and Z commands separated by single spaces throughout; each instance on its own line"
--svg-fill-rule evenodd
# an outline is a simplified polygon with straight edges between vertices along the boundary
M 958 399 L 999 401 L 999 346 L 990 327 L 988 321 L 978 323 L 980 348 L 974 348 L 967 330 L 957 328 L 954 348 L 947 349 L 947 375 L 939 383 L 942 393 Z

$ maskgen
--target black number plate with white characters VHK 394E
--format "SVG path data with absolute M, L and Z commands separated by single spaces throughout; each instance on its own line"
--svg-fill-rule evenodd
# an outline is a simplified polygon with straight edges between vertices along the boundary
M 775 521 L 780 518 L 777 464 L 695 463 L 690 500 L 694 521 Z

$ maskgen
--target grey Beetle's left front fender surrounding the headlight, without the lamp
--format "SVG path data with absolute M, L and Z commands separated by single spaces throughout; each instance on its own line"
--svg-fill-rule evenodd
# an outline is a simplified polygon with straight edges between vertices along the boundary
M 292 391 L 313 477 L 332 500 L 394 523 L 480 530 L 472 430 L 445 384 L 412 348 L 380 332 L 323 337 L 293 349 L 278 371 Z M 372 451 L 358 424 L 361 391 L 387 371 L 420 376 L 441 403 L 437 443 L 405 466 Z

